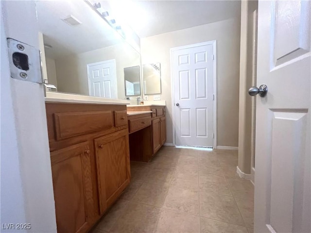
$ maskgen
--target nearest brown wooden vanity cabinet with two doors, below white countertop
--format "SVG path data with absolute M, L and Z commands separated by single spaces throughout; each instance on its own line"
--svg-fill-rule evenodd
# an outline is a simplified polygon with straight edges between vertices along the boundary
M 86 233 L 130 181 L 126 105 L 46 103 L 58 233 Z

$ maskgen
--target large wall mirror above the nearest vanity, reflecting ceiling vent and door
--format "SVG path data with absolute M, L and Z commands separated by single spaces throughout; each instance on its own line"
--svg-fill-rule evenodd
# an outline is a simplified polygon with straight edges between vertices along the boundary
M 124 99 L 128 80 L 140 95 L 140 54 L 86 1 L 40 0 L 36 10 L 48 83 L 58 92 Z

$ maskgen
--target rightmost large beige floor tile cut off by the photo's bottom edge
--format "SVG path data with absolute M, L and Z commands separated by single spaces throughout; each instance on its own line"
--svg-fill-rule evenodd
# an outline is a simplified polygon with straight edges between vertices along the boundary
M 201 217 L 201 233 L 247 233 L 246 227 Z

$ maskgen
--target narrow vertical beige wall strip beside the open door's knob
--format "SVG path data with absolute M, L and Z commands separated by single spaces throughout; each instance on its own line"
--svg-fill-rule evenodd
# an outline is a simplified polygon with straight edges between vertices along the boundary
M 240 109 L 239 109 L 239 168 L 246 174 L 251 173 L 252 147 L 255 102 L 248 95 L 248 89 L 255 84 L 255 50 L 254 11 L 258 1 L 242 1 L 241 3 L 241 58 L 240 58 Z M 255 18 L 256 19 L 256 18 Z M 254 38 L 255 37 L 255 38 Z

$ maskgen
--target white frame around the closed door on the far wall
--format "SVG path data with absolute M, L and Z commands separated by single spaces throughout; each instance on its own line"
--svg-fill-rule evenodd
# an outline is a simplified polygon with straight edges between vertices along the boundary
M 174 47 L 171 48 L 171 84 L 172 84 L 172 124 L 173 124 L 173 146 L 176 145 L 175 140 L 175 97 L 174 97 L 174 68 L 173 68 L 173 52 L 176 50 L 183 50 L 183 49 L 190 49 L 193 47 L 205 46 L 205 45 L 212 45 L 213 46 L 213 94 L 214 94 L 214 101 L 213 101 L 213 149 L 217 149 L 217 53 L 216 53 L 216 40 Z

